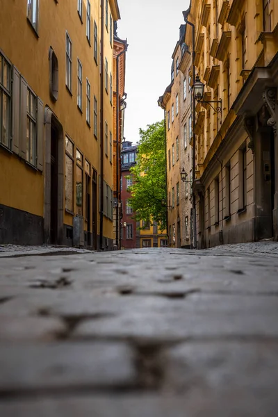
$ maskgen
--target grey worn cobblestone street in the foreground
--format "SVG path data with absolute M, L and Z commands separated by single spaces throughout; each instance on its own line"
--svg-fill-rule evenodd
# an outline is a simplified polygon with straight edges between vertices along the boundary
M 277 416 L 277 243 L 54 255 L 0 259 L 1 417 Z

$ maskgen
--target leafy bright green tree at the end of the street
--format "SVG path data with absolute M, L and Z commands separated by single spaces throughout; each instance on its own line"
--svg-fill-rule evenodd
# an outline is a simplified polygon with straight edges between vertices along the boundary
M 163 200 L 167 201 L 164 121 L 149 124 L 139 133 L 137 163 L 131 168 L 133 185 L 129 204 L 136 220 L 155 221 L 162 231 L 166 228 L 167 215 L 163 205 Z

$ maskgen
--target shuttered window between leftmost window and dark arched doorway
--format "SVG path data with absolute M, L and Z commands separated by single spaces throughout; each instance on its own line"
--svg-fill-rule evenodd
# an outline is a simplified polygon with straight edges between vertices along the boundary
M 36 165 L 36 97 L 27 88 L 27 131 L 26 131 L 26 161 Z

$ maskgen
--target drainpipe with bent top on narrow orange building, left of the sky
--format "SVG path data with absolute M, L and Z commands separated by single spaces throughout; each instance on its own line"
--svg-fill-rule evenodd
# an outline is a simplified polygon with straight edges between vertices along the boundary
M 120 250 L 120 238 L 119 238 L 119 226 L 120 226 L 120 213 L 119 213 L 119 204 L 120 204 L 120 161 L 119 161 L 119 145 L 120 145 L 120 129 L 119 129 L 119 112 L 120 112 L 120 97 L 119 97 L 119 63 L 120 63 L 120 56 L 122 54 L 125 54 L 127 51 L 127 47 L 129 45 L 127 42 L 124 44 L 124 50 L 120 52 L 120 54 L 117 54 L 116 59 L 116 193 L 117 193 L 117 211 L 116 211 L 116 245 L 117 249 Z

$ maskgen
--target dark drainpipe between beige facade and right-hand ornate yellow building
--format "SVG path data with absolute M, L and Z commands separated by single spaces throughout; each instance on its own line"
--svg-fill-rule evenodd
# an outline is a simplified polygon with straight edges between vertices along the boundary
M 192 67 L 193 67 L 193 83 L 195 83 L 195 25 L 191 22 L 188 22 L 188 14 L 190 10 L 183 12 L 184 22 L 189 24 L 192 27 Z M 193 95 L 193 92 L 191 92 Z M 196 172 L 196 134 L 195 134 L 195 124 L 196 124 L 196 104 L 195 97 L 193 96 L 193 183 L 195 181 L 195 172 Z M 197 247 L 197 224 L 196 224 L 196 197 L 193 192 L 193 249 Z

